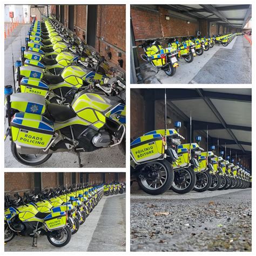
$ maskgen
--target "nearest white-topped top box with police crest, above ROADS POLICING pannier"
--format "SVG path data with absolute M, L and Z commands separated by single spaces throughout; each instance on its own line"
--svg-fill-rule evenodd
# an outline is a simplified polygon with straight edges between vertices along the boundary
M 45 99 L 40 95 L 31 93 L 14 93 L 11 95 L 11 108 L 20 112 L 43 114 L 45 112 Z

